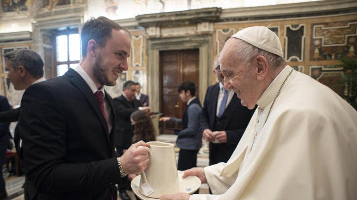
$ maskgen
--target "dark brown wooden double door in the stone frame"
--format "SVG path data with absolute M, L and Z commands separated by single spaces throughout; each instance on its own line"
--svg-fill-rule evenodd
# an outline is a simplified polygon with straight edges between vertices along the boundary
M 166 117 L 181 118 L 186 108 L 178 96 L 178 86 L 184 81 L 196 84 L 199 93 L 199 50 L 170 50 L 160 52 L 160 111 Z M 165 132 L 164 133 L 170 133 Z

